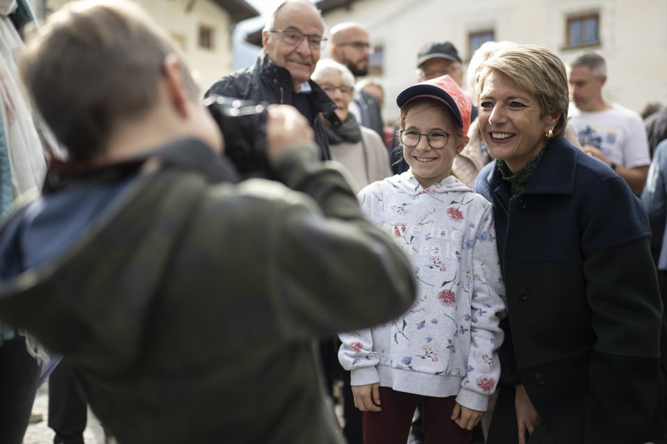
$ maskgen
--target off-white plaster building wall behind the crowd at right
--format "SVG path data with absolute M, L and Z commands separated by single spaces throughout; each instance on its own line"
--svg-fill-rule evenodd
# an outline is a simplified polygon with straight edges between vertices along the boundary
M 564 47 L 566 17 L 588 11 L 600 12 L 602 44 L 593 49 L 607 59 L 607 99 L 636 112 L 650 101 L 667 104 L 665 0 L 359 0 L 324 20 L 329 28 L 361 22 L 371 41 L 384 45 L 384 117 L 391 121 L 398 115 L 395 96 L 415 81 L 416 54 L 424 42 L 450 40 L 467 62 L 468 33 L 493 29 L 497 40 L 545 46 L 567 64 L 581 50 Z

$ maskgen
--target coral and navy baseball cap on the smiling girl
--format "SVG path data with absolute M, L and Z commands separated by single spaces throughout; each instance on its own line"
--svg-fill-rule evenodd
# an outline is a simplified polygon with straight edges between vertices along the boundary
M 472 102 L 470 97 L 461 91 L 459 85 L 450 76 L 431 78 L 431 80 L 404 89 L 398 94 L 396 104 L 402 111 L 403 107 L 411 101 L 422 98 L 435 99 L 445 103 L 454 112 L 459 126 L 463 128 L 463 134 L 468 134 Z

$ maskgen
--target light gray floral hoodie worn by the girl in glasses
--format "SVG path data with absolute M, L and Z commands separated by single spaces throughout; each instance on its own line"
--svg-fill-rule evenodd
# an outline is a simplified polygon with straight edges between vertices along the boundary
M 368 185 L 359 199 L 408 255 L 418 293 L 393 321 L 339 335 L 352 385 L 456 395 L 486 411 L 500 376 L 505 313 L 491 205 L 453 176 L 423 189 L 411 171 Z

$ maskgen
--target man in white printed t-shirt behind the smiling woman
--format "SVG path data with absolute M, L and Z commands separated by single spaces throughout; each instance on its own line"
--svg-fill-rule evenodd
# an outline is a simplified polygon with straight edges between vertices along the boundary
M 607 65 L 598 53 L 583 53 L 570 63 L 570 96 L 576 108 L 570 123 L 584 151 L 614 169 L 640 194 L 651 163 L 648 138 L 639 114 L 602 97 Z

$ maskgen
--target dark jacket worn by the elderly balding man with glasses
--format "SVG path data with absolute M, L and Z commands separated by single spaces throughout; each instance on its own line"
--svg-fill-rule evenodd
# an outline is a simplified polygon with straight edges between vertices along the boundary
M 308 84 L 312 90 L 305 95 L 308 97 L 311 115 L 304 114 L 303 110 L 299 111 L 305 115 L 315 131 L 315 142 L 321 150 L 320 157 L 322 160 L 331 160 L 329 142 L 327 142 L 327 134 L 324 132 L 324 123 L 320 112 L 324 114 L 324 117 L 327 117 L 332 125 L 339 126 L 340 119 L 334 112 L 336 103 L 329 99 L 327 93 L 322 91 L 322 88 L 313 80 L 308 80 Z M 220 78 L 211 85 L 204 97 L 211 94 L 255 102 L 265 101 L 267 103 L 294 105 L 293 96 L 297 93 L 293 91 L 290 71 L 276 65 L 262 52 L 252 67 L 241 69 Z

